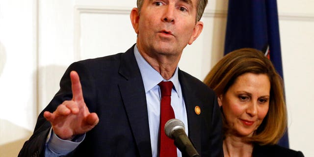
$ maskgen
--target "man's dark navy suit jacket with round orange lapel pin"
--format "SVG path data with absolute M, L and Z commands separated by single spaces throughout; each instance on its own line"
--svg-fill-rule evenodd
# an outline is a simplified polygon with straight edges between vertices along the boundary
M 134 46 L 133 46 L 134 47 Z M 86 133 L 74 157 L 151 157 L 148 112 L 143 80 L 133 47 L 95 59 L 70 65 L 60 81 L 60 90 L 44 109 L 50 112 L 72 99 L 69 73 L 78 72 L 83 97 L 90 112 L 99 116 L 99 124 Z M 189 137 L 202 157 L 223 154 L 221 116 L 214 92 L 200 80 L 179 71 L 186 105 Z M 201 114 L 195 113 L 200 106 Z M 43 156 L 51 125 L 40 113 L 33 135 L 24 144 L 19 157 Z

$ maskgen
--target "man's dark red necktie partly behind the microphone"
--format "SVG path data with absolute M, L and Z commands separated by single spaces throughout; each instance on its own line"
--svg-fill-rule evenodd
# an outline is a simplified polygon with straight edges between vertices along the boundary
M 161 91 L 159 157 L 177 157 L 177 147 L 173 143 L 174 140 L 167 137 L 164 131 L 166 122 L 175 118 L 175 113 L 170 105 L 173 83 L 171 81 L 161 81 L 158 85 Z

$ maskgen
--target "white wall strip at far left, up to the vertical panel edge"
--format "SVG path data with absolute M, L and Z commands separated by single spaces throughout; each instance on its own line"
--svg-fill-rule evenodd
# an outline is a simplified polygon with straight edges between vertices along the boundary
M 33 0 L 0 0 L 0 156 L 14 157 L 34 128 L 36 53 Z

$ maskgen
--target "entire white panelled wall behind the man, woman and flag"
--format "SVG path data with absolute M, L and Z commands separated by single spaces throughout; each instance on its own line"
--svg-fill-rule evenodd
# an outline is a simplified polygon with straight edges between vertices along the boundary
M 314 157 L 314 1 L 277 2 L 290 148 Z M 183 52 L 180 68 L 199 79 L 223 55 L 227 4 L 209 0 L 202 34 Z M 1 157 L 17 156 L 70 63 L 131 47 L 132 7 L 135 0 L 0 0 Z

